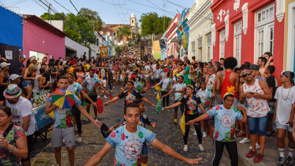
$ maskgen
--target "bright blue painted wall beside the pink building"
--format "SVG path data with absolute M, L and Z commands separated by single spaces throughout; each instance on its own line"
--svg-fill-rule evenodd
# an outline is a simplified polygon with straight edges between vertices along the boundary
M 0 6 L 0 43 L 22 48 L 22 17 Z

